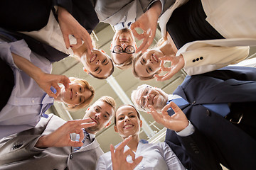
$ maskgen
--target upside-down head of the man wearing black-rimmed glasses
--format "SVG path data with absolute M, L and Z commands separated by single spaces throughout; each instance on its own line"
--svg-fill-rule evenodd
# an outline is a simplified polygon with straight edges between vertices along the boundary
M 124 28 L 122 30 L 117 30 L 110 45 L 114 66 L 119 69 L 127 69 L 130 67 L 136 48 L 135 38 L 130 29 Z

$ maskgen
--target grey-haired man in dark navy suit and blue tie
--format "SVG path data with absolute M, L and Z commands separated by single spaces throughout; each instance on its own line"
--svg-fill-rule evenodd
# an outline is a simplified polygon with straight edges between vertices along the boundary
M 169 128 L 166 142 L 187 169 L 221 169 L 220 163 L 228 169 L 256 168 L 255 68 L 188 76 L 171 95 L 142 85 L 132 101 Z

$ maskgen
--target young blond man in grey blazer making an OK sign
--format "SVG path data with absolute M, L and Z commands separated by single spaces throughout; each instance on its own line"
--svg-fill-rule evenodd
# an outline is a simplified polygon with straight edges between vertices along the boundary
M 95 134 L 110 125 L 114 107 L 112 97 L 102 96 L 83 120 L 50 114 L 35 128 L 1 139 L 0 169 L 95 169 L 103 154 Z

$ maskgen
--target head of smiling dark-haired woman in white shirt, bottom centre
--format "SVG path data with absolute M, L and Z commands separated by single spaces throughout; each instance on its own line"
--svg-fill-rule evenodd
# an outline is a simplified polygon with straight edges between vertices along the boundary
M 123 105 L 117 108 L 114 114 L 114 131 L 118 132 L 123 139 L 132 136 L 139 137 L 142 120 L 136 108 L 132 105 Z

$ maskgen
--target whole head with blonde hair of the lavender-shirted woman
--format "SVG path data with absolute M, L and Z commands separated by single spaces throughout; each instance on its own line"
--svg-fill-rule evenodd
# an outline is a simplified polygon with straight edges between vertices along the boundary
M 60 86 L 60 95 L 56 101 L 62 101 L 67 106 L 69 111 L 76 111 L 80 108 L 85 108 L 92 101 L 95 90 L 84 79 L 69 77 L 70 84 L 68 90 L 65 91 L 63 85 Z

